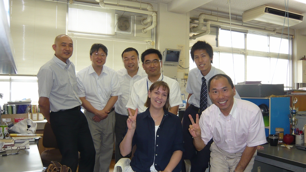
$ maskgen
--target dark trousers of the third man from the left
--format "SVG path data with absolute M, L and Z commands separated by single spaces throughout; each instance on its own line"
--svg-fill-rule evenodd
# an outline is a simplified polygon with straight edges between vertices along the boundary
M 129 158 L 130 155 L 122 156 L 120 153 L 119 149 L 119 144 L 123 140 L 123 135 L 126 130 L 126 120 L 129 118 L 129 116 L 121 115 L 115 112 L 115 118 L 116 118 L 116 123 L 115 123 L 115 137 L 116 137 L 116 142 L 115 142 L 115 162 L 117 163 L 119 159 L 121 158 Z

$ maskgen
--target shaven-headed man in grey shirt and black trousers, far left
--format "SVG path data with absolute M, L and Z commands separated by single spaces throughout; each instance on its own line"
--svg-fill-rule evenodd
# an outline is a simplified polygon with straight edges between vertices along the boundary
M 82 102 L 77 95 L 75 68 L 69 60 L 73 41 L 67 35 L 59 35 L 52 48 L 53 58 L 37 73 L 40 112 L 51 125 L 62 165 L 75 172 L 79 151 L 79 171 L 93 171 L 95 147 L 86 117 L 80 111 Z

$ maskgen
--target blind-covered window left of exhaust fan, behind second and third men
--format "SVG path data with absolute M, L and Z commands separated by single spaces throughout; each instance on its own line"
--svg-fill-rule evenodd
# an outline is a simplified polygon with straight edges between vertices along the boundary
M 126 48 L 133 47 L 139 54 L 153 48 L 149 42 L 151 38 L 118 39 L 114 29 L 115 10 L 103 9 L 97 4 L 75 2 L 69 5 L 68 20 L 68 35 L 74 44 L 70 60 L 76 66 L 76 73 L 91 65 L 89 51 L 94 43 L 102 43 L 107 47 L 105 65 L 114 70 L 124 68 L 121 53 Z

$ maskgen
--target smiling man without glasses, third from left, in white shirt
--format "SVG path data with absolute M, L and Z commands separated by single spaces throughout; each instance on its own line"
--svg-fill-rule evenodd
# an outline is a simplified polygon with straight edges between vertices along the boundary
M 133 84 L 147 77 L 144 69 L 139 67 L 139 54 L 135 48 L 127 48 L 122 54 L 122 61 L 124 68 L 117 71 L 122 94 L 118 96 L 118 101 L 115 104 L 115 162 L 117 163 L 121 158 L 129 158 L 129 155 L 122 156 L 118 144 L 122 141 L 126 129 L 126 120 L 129 118 L 129 112 L 125 109 L 131 95 Z

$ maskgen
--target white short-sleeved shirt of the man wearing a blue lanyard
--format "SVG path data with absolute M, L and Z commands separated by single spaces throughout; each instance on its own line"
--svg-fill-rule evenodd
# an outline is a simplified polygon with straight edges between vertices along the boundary
M 178 82 L 162 74 L 160 75 L 158 81 L 159 80 L 165 81 L 170 88 L 170 107 L 174 107 L 177 105 L 179 105 L 179 107 L 182 107 L 183 101 L 181 98 L 181 89 Z M 131 108 L 134 110 L 138 108 L 138 114 L 144 112 L 147 109 L 147 107 L 144 106 L 144 103 L 146 103 L 147 101 L 148 89 L 150 89 L 151 85 L 152 83 L 148 77 L 135 82 L 132 87 L 132 92 L 129 101 L 126 104 L 126 108 Z

